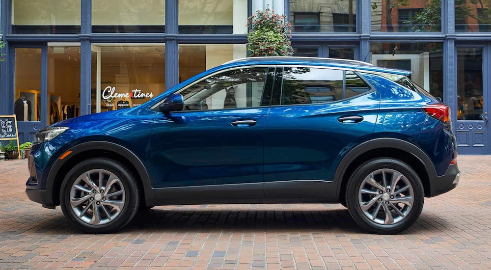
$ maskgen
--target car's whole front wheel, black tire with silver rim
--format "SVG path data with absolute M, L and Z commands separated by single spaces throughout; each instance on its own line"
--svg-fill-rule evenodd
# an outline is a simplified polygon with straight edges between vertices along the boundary
M 138 186 L 131 171 L 105 158 L 89 159 L 74 166 L 60 189 L 63 214 L 87 233 L 121 229 L 133 219 L 139 202 Z

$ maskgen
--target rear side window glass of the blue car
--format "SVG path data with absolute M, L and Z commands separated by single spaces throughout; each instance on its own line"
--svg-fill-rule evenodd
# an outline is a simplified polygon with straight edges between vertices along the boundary
M 353 72 L 343 70 L 285 67 L 281 74 L 281 105 L 340 101 L 369 91 Z

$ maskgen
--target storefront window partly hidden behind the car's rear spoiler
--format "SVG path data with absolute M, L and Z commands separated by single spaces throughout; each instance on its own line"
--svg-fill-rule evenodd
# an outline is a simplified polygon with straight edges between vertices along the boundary
M 370 62 L 413 71 L 409 79 L 443 100 L 442 43 L 370 43 Z

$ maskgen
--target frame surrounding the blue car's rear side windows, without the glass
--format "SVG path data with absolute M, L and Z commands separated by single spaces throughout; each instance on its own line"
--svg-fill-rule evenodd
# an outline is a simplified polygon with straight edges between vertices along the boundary
M 347 71 L 351 71 L 353 73 L 356 74 L 356 76 L 358 76 L 363 82 L 365 82 L 368 86 L 368 88 L 370 88 L 368 91 L 365 91 L 363 93 L 360 93 L 358 95 L 355 95 L 355 96 L 352 96 L 352 97 L 349 97 L 349 98 L 345 98 L 345 99 L 341 99 L 341 100 L 335 100 L 335 101 L 329 101 L 329 102 L 323 102 L 323 103 L 308 103 L 308 104 L 281 104 L 281 99 L 282 99 L 282 96 L 283 96 L 283 68 L 285 67 L 300 67 L 300 68 L 320 68 L 320 69 L 329 69 L 329 70 L 342 70 L 343 71 L 343 95 L 344 95 L 344 92 L 346 91 L 346 72 Z M 281 74 L 280 76 L 278 76 L 278 74 Z M 278 78 L 281 78 L 281 81 L 278 81 Z M 278 85 L 279 87 L 278 87 Z M 288 64 L 285 64 L 285 65 L 276 65 L 276 71 L 275 71 L 275 74 L 274 74 L 274 85 L 275 87 L 273 87 L 273 92 L 272 92 L 272 97 L 274 97 L 274 94 L 276 93 L 277 95 L 277 92 L 278 92 L 278 89 L 280 91 L 280 94 L 279 94 L 279 103 L 280 104 L 271 104 L 271 107 L 288 107 L 288 106 L 317 106 L 317 105 L 327 105 L 327 104 L 334 104 L 334 103 L 340 103 L 340 102 L 345 102 L 345 101 L 348 101 L 348 100 L 351 100 L 351 99 L 355 99 L 357 97 L 360 97 L 360 96 L 363 96 L 363 95 L 367 95 L 367 94 L 370 94 L 370 93 L 373 93 L 373 92 L 376 92 L 377 89 L 370 83 L 368 82 L 365 78 L 363 78 L 363 76 L 361 76 L 359 74 L 358 71 L 356 71 L 355 69 L 353 68 L 341 68 L 341 67 L 329 67 L 329 66 L 316 66 L 316 65 L 288 65 Z

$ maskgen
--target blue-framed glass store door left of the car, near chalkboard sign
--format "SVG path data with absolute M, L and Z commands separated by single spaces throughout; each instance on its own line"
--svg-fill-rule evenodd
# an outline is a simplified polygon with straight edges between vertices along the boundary
M 13 94 L 11 109 L 17 118 L 20 142 L 33 141 L 34 134 L 46 126 L 46 47 L 43 45 L 14 45 L 10 50 Z

